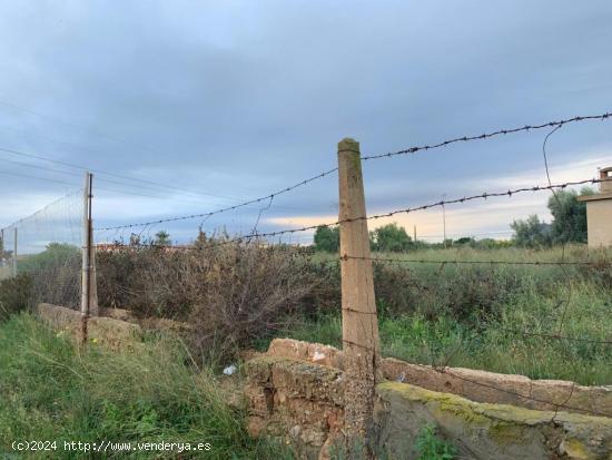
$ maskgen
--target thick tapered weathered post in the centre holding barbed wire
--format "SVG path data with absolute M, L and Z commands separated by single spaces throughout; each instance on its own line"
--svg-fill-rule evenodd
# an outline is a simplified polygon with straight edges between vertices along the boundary
M 367 449 L 375 385 L 382 380 L 359 143 L 338 143 L 345 433 L 349 458 Z M 364 446 L 365 443 L 365 446 Z

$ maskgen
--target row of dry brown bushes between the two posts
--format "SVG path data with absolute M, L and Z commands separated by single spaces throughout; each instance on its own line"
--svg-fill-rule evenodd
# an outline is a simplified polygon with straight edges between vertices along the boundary
M 317 281 L 295 248 L 200 238 L 98 254 L 100 304 L 188 322 L 198 353 L 223 358 L 286 327 Z

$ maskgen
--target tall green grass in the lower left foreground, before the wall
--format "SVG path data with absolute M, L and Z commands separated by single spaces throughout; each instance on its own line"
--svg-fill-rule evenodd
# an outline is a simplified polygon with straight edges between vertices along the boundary
M 0 458 L 285 459 L 285 448 L 251 440 L 245 413 L 225 402 L 208 370 L 196 371 L 176 341 L 138 352 L 76 349 L 28 314 L 0 325 Z M 53 454 L 16 454 L 12 441 L 57 441 Z M 208 442 L 200 454 L 65 452 L 65 441 Z M 13 456 L 13 457 L 11 457 Z

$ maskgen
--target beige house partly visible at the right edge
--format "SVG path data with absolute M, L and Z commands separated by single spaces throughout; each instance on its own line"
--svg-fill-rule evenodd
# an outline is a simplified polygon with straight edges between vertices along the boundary
M 600 193 L 580 196 L 586 202 L 589 247 L 612 246 L 612 167 L 600 169 Z

